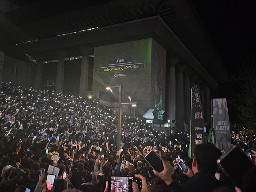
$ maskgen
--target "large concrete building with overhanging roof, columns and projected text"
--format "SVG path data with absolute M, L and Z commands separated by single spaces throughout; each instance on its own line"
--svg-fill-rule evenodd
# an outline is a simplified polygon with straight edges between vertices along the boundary
M 211 90 L 229 77 L 190 0 L 28 2 L 0 4 L 2 80 L 112 102 L 105 87 L 123 85 L 136 116 L 157 107 L 177 130 L 190 127 L 198 85 L 211 122 Z

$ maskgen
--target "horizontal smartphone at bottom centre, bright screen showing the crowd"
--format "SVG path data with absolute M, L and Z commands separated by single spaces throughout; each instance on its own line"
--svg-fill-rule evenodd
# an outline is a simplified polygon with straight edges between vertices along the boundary
M 108 192 L 112 187 L 116 188 L 116 192 L 132 192 L 132 182 L 136 182 L 141 190 L 141 180 L 131 176 L 104 176 L 103 188 L 108 188 Z

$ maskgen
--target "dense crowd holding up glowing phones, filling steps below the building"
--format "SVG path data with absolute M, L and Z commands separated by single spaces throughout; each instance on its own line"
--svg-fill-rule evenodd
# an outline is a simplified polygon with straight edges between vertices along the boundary
M 123 117 L 117 149 L 117 113 L 97 100 L 11 83 L 2 83 L 0 99 L 0 191 L 107 192 L 105 175 L 139 177 L 143 192 L 235 190 L 228 180 L 215 181 L 221 152 L 213 144 L 199 145 L 195 158 L 187 157 L 187 132 L 166 135 Z M 150 151 L 162 158 L 161 173 L 145 160 Z M 177 166 L 180 158 L 187 173 Z M 50 166 L 59 169 L 51 190 L 45 182 Z M 135 182 L 132 188 L 139 191 Z

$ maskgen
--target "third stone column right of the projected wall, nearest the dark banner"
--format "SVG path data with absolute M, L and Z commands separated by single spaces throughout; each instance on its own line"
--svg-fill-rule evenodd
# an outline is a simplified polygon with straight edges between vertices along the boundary
M 191 100 L 191 89 L 189 76 L 192 75 L 193 71 L 184 70 L 184 121 L 188 125 L 188 132 L 190 132 L 190 100 Z

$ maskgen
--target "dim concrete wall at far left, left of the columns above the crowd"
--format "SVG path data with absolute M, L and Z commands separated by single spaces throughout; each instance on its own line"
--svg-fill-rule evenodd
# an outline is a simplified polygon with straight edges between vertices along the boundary
M 16 83 L 26 87 L 27 63 L 22 60 L 4 56 L 3 82 Z

